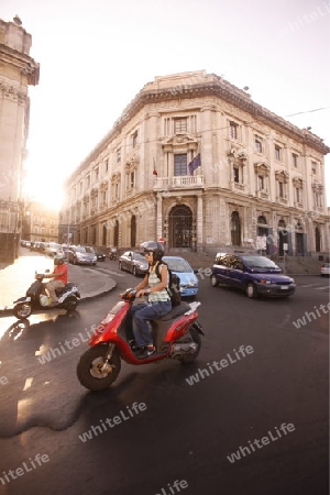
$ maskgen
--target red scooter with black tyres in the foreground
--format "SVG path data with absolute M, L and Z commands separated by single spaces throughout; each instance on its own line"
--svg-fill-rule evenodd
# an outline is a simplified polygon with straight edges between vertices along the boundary
M 135 299 L 136 290 L 128 289 L 108 315 L 102 319 L 89 340 L 88 349 L 77 365 L 77 376 L 89 391 L 103 391 L 120 373 L 121 360 L 129 364 L 147 364 L 164 359 L 176 359 L 191 363 L 199 354 L 200 336 L 204 334 L 197 321 L 200 302 L 182 302 L 158 320 L 151 321 L 156 352 L 148 358 L 139 358 L 139 351 L 130 343 L 128 314 Z

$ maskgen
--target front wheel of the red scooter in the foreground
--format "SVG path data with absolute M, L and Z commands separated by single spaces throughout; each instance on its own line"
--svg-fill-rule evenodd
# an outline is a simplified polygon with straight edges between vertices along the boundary
M 77 376 L 80 384 L 89 391 L 105 391 L 117 380 L 121 360 L 114 350 L 109 363 L 106 363 L 108 345 L 97 345 L 86 351 L 77 365 Z

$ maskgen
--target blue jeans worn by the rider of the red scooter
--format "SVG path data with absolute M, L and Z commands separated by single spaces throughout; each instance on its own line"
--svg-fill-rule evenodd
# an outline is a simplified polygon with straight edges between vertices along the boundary
M 131 308 L 133 314 L 133 332 L 140 346 L 153 344 L 148 321 L 157 320 L 172 309 L 170 300 L 164 302 L 140 302 Z

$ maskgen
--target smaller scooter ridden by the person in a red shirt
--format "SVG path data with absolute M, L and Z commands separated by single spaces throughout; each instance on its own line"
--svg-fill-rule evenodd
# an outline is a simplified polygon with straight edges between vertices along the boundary
M 43 284 L 44 274 L 35 274 L 35 282 L 26 290 L 25 297 L 20 297 L 14 301 L 13 314 L 18 319 L 29 318 L 34 311 L 45 311 L 47 309 L 66 309 L 74 311 L 78 304 L 80 294 L 76 284 L 69 282 L 65 287 L 55 290 L 58 302 L 56 306 L 50 307 L 50 298 L 45 292 L 45 284 Z

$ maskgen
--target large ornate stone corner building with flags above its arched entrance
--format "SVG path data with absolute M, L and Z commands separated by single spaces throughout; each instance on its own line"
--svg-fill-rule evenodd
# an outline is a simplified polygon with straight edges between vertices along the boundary
M 156 77 L 68 178 L 61 223 L 81 244 L 327 252 L 329 151 L 217 75 Z

